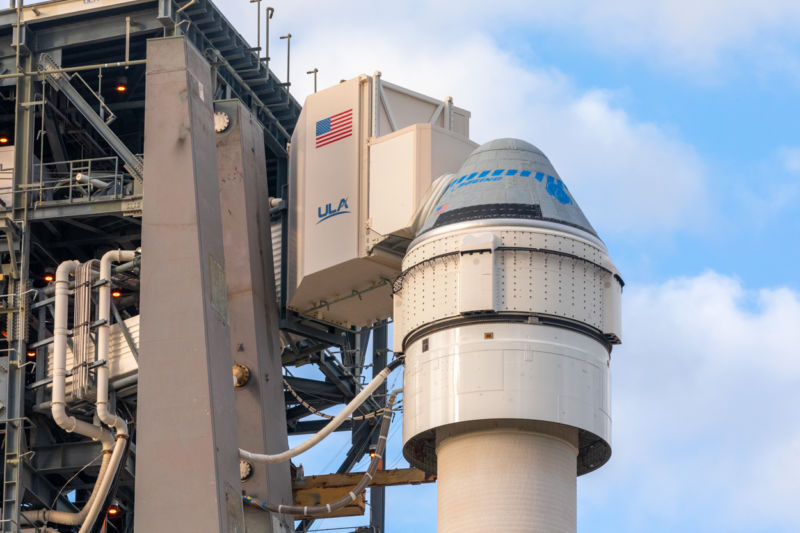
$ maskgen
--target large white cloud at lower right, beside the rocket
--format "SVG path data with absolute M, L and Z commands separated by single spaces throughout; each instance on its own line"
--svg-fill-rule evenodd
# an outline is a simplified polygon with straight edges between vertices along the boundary
M 800 528 L 800 294 L 710 272 L 626 287 L 624 319 L 614 457 L 587 504 L 616 494 L 675 530 Z

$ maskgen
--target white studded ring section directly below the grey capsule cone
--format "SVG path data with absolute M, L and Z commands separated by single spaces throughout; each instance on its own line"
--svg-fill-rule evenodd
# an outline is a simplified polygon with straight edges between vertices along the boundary
M 470 280 L 461 279 L 468 272 L 461 264 L 474 257 L 446 254 L 459 252 L 464 236 L 486 232 L 496 236 L 497 247 L 521 248 L 490 254 L 494 310 L 566 318 L 622 337 L 622 287 L 614 279 L 616 268 L 604 248 L 558 230 L 478 221 L 421 240 L 403 259 L 403 272 L 408 274 L 402 281 L 402 291 L 394 298 L 395 346 L 402 346 L 409 333 L 425 324 L 464 312 L 459 297 Z M 439 256 L 445 257 L 434 260 Z

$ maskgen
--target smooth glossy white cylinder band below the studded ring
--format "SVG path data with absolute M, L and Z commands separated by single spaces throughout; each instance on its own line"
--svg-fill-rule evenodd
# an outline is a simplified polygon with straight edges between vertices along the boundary
M 432 333 L 406 350 L 403 443 L 498 419 L 565 424 L 610 443 L 608 365 L 600 343 L 564 328 L 498 322 Z

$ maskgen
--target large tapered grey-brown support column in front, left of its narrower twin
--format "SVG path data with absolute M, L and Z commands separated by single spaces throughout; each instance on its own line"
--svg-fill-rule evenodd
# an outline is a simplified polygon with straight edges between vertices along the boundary
M 243 533 L 208 63 L 147 44 L 136 531 Z

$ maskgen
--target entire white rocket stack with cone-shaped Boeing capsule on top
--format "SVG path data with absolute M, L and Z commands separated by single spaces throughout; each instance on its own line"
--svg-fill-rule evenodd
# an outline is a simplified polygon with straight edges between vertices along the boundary
M 574 532 L 575 478 L 611 456 L 622 280 L 534 146 L 446 179 L 394 286 L 403 453 L 438 474 L 440 533 Z

